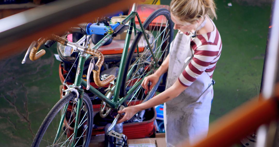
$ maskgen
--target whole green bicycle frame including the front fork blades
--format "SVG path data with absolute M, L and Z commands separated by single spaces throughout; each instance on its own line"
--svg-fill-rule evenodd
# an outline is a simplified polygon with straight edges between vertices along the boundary
M 139 20 L 139 24 L 140 24 L 140 27 L 141 29 L 137 29 L 135 28 L 135 17 L 138 18 Z M 124 67 L 126 66 L 127 64 L 127 55 L 128 55 L 128 50 L 129 50 L 129 43 L 130 43 L 130 40 L 131 40 L 131 34 L 132 34 L 132 30 L 134 29 L 137 30 L 137 31 L 141 31 L 144 35 L 144 38 L 149 46 L 149 50 L 151 51 L 151 54 L 152 54 L 152 58 L 154 59 L 155 61 L 155 66 L 157 66 L 157 61 L 155 60 L 155 57 L 154 57 L 154 54 L 152 52 L 152 49 L 151 49 L 151 46 L 150 46 L 150 43 L 148 41 L 148 38 L 145 34 L 145 31 L 144 31 L 144 27 L 143 27 L 143 24 L 141 23 L 140 21 L 140 18 L 137 14 L 137 12 L 131 12 L 121 23 L 122 24 L 126 24 L 127 22 L 129 21 L 129 29 L 127 31 L 127 35 L 126 35 L 126 39 L 125 39 L 125 44 L 124 44 L 124 48 L 123 48 L 123 52 L 122 52 L 122 56 L 121 56 L 121 61 L 120 61 L 120 67 L 119 67 L 119 73 L 118 73 L 118 77 L 117 77 L 117 82 L 116 82 L 116 86 L 115 86 L 115 91 L 114 91 L 114 97 L 112 100 L 108 99 L 104 94 L 102 94 L 101 92 L 99 92 L 97 89 L 95 89 L 93 86 L 90 85 L 90 88 L 89 88 L 89 91 L 92 92 L 93 94 L 95 94 L 97 97 L 99 97 L 102 101 L 104 101 L 110 108 L 112 109 L 117 109 L 123 102 L 126 101 L 126 99 L 131 95 L 133 94 L 133 91 L 138 88 L 139 86 L 141 86 L 141 82 L 143 81 L 144 77 L 139 80 L 135 85 L 133 85 L 133 87 L 130 88 L 130 90 L 127 92 L 127 94 L 120 98 L 119 99 L 119 92 L 120 92 L 120 86 L 121 86 L 121 83 L 122 83 L 122 80 L 123 80 L 123 75 L 124 74 Z M 136 31 L 135 31 L 136 33 Z M 112 37 L 112 34 L 107 34 L 102 40 L 100 40 L 94 47 L 93 49 L 98 49 L 100 46 L 102 46 L 107 40 L 109 40 L 110 38 Z M 137 46 L 137 53 L 139 53 L 138 51 L 138 46 Z M 85 64 L 85 61 L 90 57 L 91 55 L 80 55 L 79 57 L 79 61 L 78 61 L 78 68 L 77 68 L 77 71 L 76 71 L 76 77 L 75 77 L 75 80 L 74 80 L 74 84 L 73 84 L 73 87 L 76 87 L 78 89 L 78 92 L 81 93 L 80 97 L 78 98 L 78 103 L 77 103 L 77 115 L 80 115 L 79 112 L 80 112 L 80 109 L 82 107 L 82 99 L 83 99 L 83 89 L 80 89 L 81 88 L 81 85 L 83 85 L 84 87 L 86 87 L 87 83 L 85 80 L 82 79 L 82 72 L 83 72 L 83 68 L 84 68 L 84 64 Z M 153 70 L 150 70 L 146 75 L 150 75 L 151 73 L 153 72 Z M 131 75 L 131 72 L 128 72 L 128 76 Z M 66 108 L 64 108 L 66 109 Z M 66 111 L 66 110 L 64 110 Z M 62 124 L 62 122 L 64 121 L 64 116 L 62 116 L 61 118 L 61 122 L 60 122 L 60 125 Z M 77 134 L 77 125 L 78 125 L 78 122 L 79 122 L 79 117 L 76 117 L 76 120 L 75 120 L 75 129 L 74 129 L 74 134 L 73 134 L 73 138 L 76 138 L 76 134 Z M 62 126 L 62 125 L 61 125 Z M 59 127 L 58 131 L 57 131 L 57 134 L 56 134 L 56 138 L 59 137 L 60 135 L 60 130 L 61 130 L 61 127 Z M 56 140 L 56 139 L 55 139 Z M 71 146 L 74 146 L 75 145 L 75 139 L 73 140 L 73 142 L 71 143 Z

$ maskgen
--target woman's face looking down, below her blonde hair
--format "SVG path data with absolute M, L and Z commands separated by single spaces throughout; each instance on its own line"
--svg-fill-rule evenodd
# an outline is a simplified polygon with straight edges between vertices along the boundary
M 196 29 L 196 24 L 188 23 L 186 21 L 180 21 L 176 16 L 170 13 L 170 17 L 174 22 L 174 30 L 180 30 L 183 33 Z M 198 22 L 197 22 L 198 23 Z

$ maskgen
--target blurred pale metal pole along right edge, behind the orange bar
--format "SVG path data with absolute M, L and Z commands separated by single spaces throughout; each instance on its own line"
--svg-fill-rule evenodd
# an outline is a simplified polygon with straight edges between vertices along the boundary
M 273 3 L 273 12 L 271 15 L 270 38 L 266 48 L 266 58 L 263 71 L 262 94 L 263 99 L 269 99 L 274 95 L 274 87 L 276 83 L 276 75 L 278 73 L 278 47 L 279 47 L 279 1 Z M 267 114 L 268 115 L 268 114 Z M 263 124 L 257 131 L 256 147 L 267 146 L 268 126 Z

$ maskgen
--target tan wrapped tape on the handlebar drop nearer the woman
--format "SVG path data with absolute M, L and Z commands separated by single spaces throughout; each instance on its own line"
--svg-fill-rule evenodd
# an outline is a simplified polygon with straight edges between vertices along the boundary
M 104 63 L 104 55 L 101 52 L 99 52 L 98 50 L 94 50 L 94 49 L 90 49 L 90 48 L 86 48 L 85 52 L 98 57 L 98 61 L 95 64 L 95 66 L 98 66 L 98 70 L 92 70 L 94 82 L 97 86 L 104 87 L 105 85 L 109 84 L 111 81 L 113 81 L 115 79 L 114 75 L 110 75 L 109 77 L 107 77 L 106 79 L 101 81 L 100 80 L 100 69 Z

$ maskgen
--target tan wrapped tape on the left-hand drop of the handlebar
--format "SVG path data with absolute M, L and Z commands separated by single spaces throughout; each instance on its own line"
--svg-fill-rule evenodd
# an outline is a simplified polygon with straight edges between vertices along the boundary
M 38 52 L 38 49 L 47 40 L 55 40 L 55 41 L 57 41 L 57 42 L 59 42 L 59 43 L 61 43 L 63 45 L 65 45 L 65 42 L 67 41 L 66 39 L 61 38 L 61 37 L 59 37 L 57 35 L 50 35 L 50 36 L 47 36 L 47 37 L 40 38 L 37 41 L 35 47 L 33 47 L 31 52 L 30 52 L 30 55 L 29 55 L 30 60 L 32 60 L 32 61 L 37 60 L 37 59 L 39 59 L 40 57 L 42 57 L 45 54 L 45 50 L 40 50 Z

